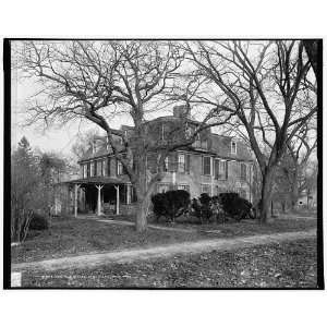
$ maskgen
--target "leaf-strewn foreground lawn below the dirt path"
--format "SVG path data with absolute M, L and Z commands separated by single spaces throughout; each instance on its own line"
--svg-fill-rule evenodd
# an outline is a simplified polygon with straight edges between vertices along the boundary
M 28 271 L 34 288 L 316 288 L 316 240 L 234 252 L 111 264 L 97 268 Z

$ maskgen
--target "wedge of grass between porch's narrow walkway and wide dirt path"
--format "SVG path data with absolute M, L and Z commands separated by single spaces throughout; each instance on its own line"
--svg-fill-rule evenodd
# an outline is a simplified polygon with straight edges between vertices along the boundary
M 153 229 L 137 233 L 133 226 L 117 226 L 96 220 L 53 219 L 48 230 L 33 231 L 24 243 L 12 247 L 11 258 L 12 263 L 23 263 L 82 253 L 193 241 L 198 238 L 197 233 Z

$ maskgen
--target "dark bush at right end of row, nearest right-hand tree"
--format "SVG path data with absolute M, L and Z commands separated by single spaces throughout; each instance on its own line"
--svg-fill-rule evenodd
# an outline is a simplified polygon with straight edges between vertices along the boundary
M 223 211 L 237 220 L 253 218 L 252 204 L 238 193 L 221 193 L 218 196 Z

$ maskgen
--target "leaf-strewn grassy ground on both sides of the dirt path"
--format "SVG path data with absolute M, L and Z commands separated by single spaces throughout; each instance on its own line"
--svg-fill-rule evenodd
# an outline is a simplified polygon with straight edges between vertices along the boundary
M 33 232 L 24 244 L 12 247 L 12 264 L 118 250 L 205 240 L 244 239 L 283 232 L 313 231 L 316 219 L 283 217 L 267 225 L 242 221 L 226 225 L 174 225 L 136 233 L 133 226 L 95 219 L 58 219 L 47 231 Z M 265 237 L 262 237 L 266 240 Z M 223 241 L 226 240 L 226 241 Z M 234 242 L 234 241 L 232 241 Z M 316 288 L 316 239 L 254 245 L 229 251 L 174 254 L 146 261 L 114 263 L 53 271 L 40 267 L 23 271 L 23 287 L 46 288 Z

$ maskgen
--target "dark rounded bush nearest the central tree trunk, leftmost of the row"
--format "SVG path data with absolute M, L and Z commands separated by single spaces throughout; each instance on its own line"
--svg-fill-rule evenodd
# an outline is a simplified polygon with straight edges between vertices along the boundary
M 157 219 L 160 216 L 169 218 L 171 221 L 189 210 L 190 193 L 184 190 L 173 190 L 153 195 L 154 214 Z

